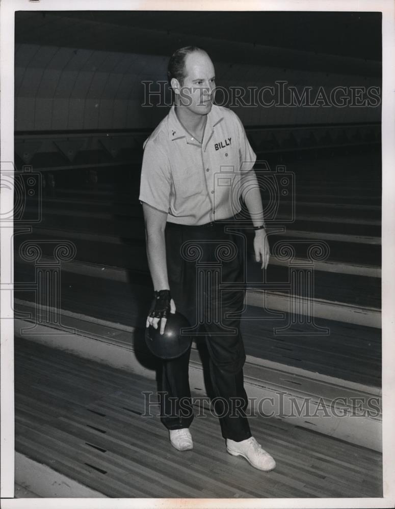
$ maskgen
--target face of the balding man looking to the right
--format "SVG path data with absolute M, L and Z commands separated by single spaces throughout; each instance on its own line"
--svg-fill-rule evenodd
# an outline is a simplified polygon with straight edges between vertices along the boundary
M 185 78 L 179 90 L 179 104 L 197 115 L 207 115 L 215 90 L 213 62 L 206 53 L 195 51 L 185 61 Z

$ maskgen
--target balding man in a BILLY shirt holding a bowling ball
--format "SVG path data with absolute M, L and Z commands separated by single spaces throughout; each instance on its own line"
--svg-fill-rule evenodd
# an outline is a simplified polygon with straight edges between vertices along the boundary
M 141 173 L 139 200 L 155 291 L 146 326 L 160 327 L 163 333 L 168 313 L 176 308 L 192 325 L 204 315 L 210 379 L 226 449 L 255 468 L 272 470 L 275 461 L 251 436 L 240 318 L 229 318 L 229 313 L 242 312 L 245 289 L 219 292 L 215 278 L 202 282 L 196 276 L 197 261 L 220 260 L 221 282 L 244 280 L 243 236 L 225 228 L 241 210 L 240 200 L 234 199 L 237 185 L 236 196 L 243 197 L 255 229 L 255 259 L 266 269 L 269 244 L 253 171 L 256 156 L 239 118 L 213 104 L 214 66 L 204 50 L 191 46 L 177 50 L 169 61 L 168 77 L 174 105 L 144 144 Z M 225 177 L 235 177 L 232 185 L 216 185 L 216 175 L 223 169 L 231 171 Z M 233 246 L 236 253 L 221 254 L 218 246 L 225 251 Z M 190 349 L 163 361 L 160 382 L 161 419 L 178 450 L 193 448 L 189 358 Z

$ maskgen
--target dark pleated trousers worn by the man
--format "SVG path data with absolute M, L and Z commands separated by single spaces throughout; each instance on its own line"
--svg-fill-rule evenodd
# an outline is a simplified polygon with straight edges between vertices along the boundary
M 232 232 L 226 231 L 226 226 Z M 244 239 L 234 218 L 201 226 L 166 225 L 166 258 L 171 296 L 193 331 L 204 332 L 214 409 L 224 438 L 242 441 L 251 436 L 245 410 L 240 333 L 244 309 Z M 220 289 L 220 284 L 239 284 Z M 235 285 L 233 285 L 234 287 Z M 227 316 L 229 315 L 229 316 Z M 234 316 L 232 316 L 234 315 Z M 190 350 L 163 361 L 160 385 L 161 420 L 168 429 L 188 428 L 193 420 L 189 385 Z

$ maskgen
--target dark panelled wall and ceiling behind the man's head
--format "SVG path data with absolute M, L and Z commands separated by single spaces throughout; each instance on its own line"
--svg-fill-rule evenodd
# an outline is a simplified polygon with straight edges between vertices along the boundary
M 381 88 L 381 13 L 20 11 L 15 130 L 153 128 L 168 107 L 143 107 L 142 81 L 166 80 L 169 55 L 189 44 L 225 88 Z M 246 126 L 381 118 L 379 104 L 234 109 Z

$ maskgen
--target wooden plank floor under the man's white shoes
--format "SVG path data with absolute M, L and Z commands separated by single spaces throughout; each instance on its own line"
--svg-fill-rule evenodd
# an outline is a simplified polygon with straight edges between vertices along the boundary
M 145 416 L 153 380 L 15 339 L 16 450 L 108 497 L 380 497 L 381 454 L 276 418 L 250 418 L 275 457 L 269 473 L 226 453 L 217 418 L 200 411 L 180 453 Z M 152 401 L 152 400 L 151 400 Z

